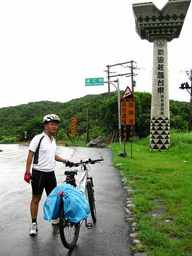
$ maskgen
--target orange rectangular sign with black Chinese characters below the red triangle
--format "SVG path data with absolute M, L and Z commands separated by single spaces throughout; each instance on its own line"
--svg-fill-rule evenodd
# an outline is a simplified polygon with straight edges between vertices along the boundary
M 121 102 L 121 125 L 135 125 L 135 102 Z

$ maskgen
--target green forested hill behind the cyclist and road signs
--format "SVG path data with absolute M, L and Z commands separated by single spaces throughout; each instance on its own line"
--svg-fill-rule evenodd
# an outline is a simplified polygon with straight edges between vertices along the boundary
M 121 92 L 122 94 L 123 92 Z M 136 136 L 146 137 L 150 131 L 151 94 L 135 93 Z M 70 131 L 71 117 L 77 117 L 78 135 L 86 132 L 87 108 L 89 108 L 90 137 L 108 136 L 117 129 L 118 107 L 116 93 L 108 99 L 108 93 L 87 95 L 69 102 L 29 102 L 15 107 L 0 108 L 0 136 L 15 136 L 27 131 L 31 139 L 43 131 L 43 116 L 55 113 L 61 118 L 59 134 L 64 137 Z M 170 100 L 171 128 L 186 130 L 189 103 Z

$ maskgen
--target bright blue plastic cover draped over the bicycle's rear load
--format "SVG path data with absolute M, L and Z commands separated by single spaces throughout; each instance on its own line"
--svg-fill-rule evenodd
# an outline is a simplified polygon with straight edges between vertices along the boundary
M 59 192 L 63 195 L 59 196 Z M 51 221 L 59 218 L 59 207 L 61 200 L 64 201 L 64 213 L 68 221 L 77 223 L 88 218 L 90 212 L 87 198 L 70 184 L 56 186 L 44 203 L 44 219 Z

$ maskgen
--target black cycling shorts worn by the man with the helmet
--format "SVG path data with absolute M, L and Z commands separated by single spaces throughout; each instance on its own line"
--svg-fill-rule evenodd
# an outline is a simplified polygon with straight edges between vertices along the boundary
M 31 185 L 33 195 L 42 195 L 45 189 L 48 196 L 57 186 L 55 172 L 42 172 L 32 169 Z

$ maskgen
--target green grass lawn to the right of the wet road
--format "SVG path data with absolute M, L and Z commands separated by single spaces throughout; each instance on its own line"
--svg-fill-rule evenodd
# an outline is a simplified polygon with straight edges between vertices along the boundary
M 127 157 L 119 157 L 123 143 L 110 144 L 113 163 L 133 188 L 131 209 L 137 239 L 148 256 L 192 255 L 192 133 L 171 134 L 168 151 L 149 151 L 148 139 L 126 143 Z M 143 144 L 143 145 L 141 145 Z M 168 220 L 168 222 L 167 222 Z

